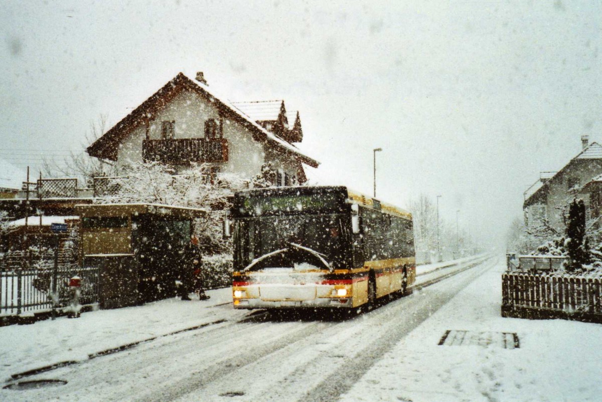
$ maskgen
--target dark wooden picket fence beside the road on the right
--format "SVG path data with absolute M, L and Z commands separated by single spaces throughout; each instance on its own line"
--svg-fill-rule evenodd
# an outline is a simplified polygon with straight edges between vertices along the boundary
M 602 323 L 602 280 L 580 276 L 504 273 L 501 315 Z

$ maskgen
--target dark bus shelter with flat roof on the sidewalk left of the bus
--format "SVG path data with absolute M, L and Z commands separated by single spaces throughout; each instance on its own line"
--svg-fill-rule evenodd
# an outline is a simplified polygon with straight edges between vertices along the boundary
M 76 205 L 80 264 L 98 268 L 99 303 L 117 308 L 173 297 L 202 209 L 154 204 Z

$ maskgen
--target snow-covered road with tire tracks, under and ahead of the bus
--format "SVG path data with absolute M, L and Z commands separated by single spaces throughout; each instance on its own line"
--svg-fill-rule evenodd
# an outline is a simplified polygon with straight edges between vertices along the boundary
M 230 319 L 28 378 L 66 380 L 64 386 L 0 395 L 11 392 L 14 401 L 336 400 L 491 266 L 485 262 L 347 320 L 261 312 L 241 319 L 230 305 L 216 306 L 216 317 Z M 421 282 L 456 269 L 425 274 Z

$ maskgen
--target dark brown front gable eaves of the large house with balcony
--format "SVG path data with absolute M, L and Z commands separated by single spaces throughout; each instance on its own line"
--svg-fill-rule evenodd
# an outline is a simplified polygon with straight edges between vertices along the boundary
M 247 116 L 247 114 L 234 107 L 231 102 L 223 97 L 217 96 L 214 91 L 210 91 L 207 85 L 193 81 L 183 73 L 178 73 L 178 75 L 167 82 L 163 88 L 144 100 L 144 102 L 128 114 L 128 116 L 124 117 L 119 123 L 113 126 L 113 128 L 102 135 L 101 138 L 98 138 L 98 140 L 86 149 L 88 155 L 116 161 L 118 150 L 117 144 L 123 141 L 135 128 L 150 122 L 152 116 L 157 111 L 167 105 L 170 100 L 182 91 L 193 91 L 208 99 L 209 102 L 216 105 L 220 113 L 225 114 L 225 116 L 228 116 L 230 119 L 235 120 L 249 129 L 255 141 L 267 141 L 282 152 L 290 153 L 296 156 L 301 162 L 312 167 L 318 167 L 320 164 L 320 162 L 302 153 L 293 144 L 288 143 L 282 138 L 276 137 L 272 132 L 267 131 L 261 125 L 256 123 L 255 120 Z

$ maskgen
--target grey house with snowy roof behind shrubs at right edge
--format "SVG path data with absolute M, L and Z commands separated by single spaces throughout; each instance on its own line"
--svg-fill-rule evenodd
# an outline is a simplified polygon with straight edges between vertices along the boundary
M 542 172 L 524 193 L 524 220 L 529 229 L 564 233 L 565 212 L 575 197 L 582 198 L 591 212 L 590 194 L 583 187 L 602 175 L 602 146 L 582 136 L 582 151 L 558 172 Z

